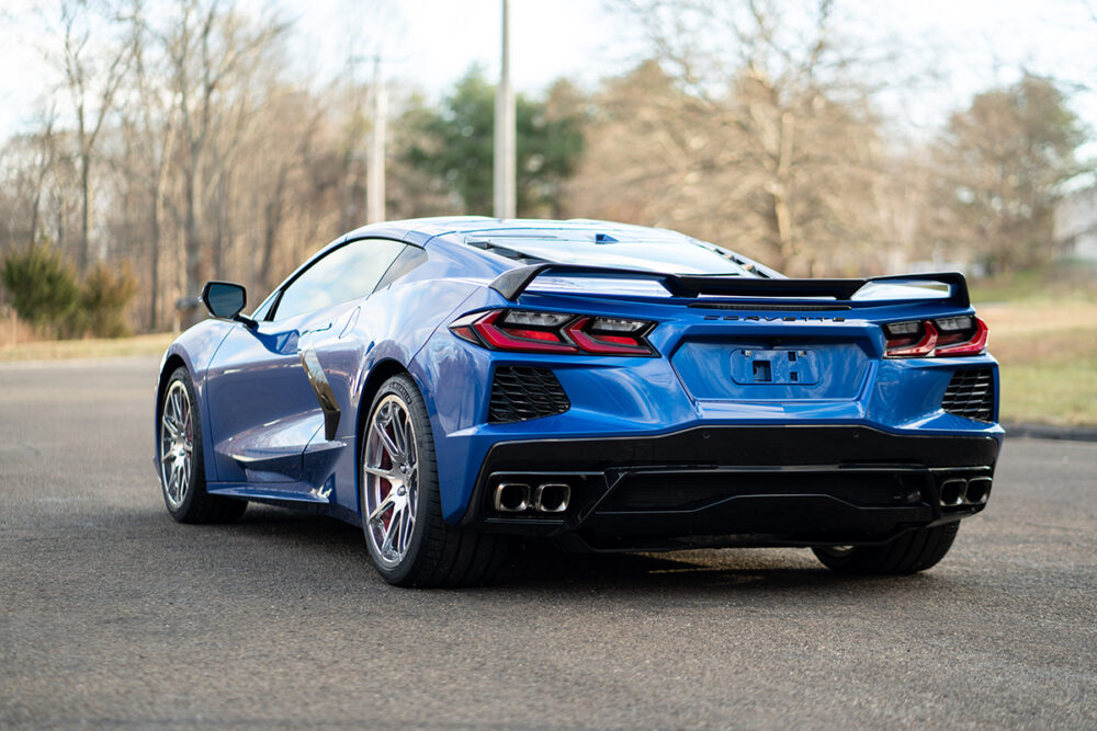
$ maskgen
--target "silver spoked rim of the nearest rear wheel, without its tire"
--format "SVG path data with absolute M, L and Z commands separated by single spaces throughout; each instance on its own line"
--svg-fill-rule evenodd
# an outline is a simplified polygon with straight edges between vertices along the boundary
M 419 507 L 419 453 L 409 413 L 395 393 L 382 399 L 370 416 L 362 460 L 365 535 L 387 568 L 407 556 Z

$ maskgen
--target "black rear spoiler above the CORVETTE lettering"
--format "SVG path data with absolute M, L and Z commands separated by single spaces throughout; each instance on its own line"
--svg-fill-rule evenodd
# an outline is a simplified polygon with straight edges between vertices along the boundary
M 587 266 L 583 264 L 530 264 L 517 266 L 497 276 L 489 285 L 510 301 L 514 301 L 542 274 L 580 276 L 612 276 L 656 279 L 675 297 L 698 297 L 699 295 L 725 295 L 728 297 L 789 297 L 812 298 L 833 297 L 850 299 L 861 287 L 870 283 L 902 284 L 904 282 L 938 282 L 949 286 L 946 300 L 957 307 L 969 307 L 968 281 L 960 272 L 936 272 L 930 274 L 894 274 L 871 276 L 863 279 L 762 279 L 744 276 L 665 274 L 644 270 L 618 269 L 612 266 Z

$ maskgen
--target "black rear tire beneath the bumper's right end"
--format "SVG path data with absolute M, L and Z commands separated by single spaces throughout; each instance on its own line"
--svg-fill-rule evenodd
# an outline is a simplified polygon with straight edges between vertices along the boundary
M 882 546 L 816 546 L 815 558 L 840 573 L 903 574 L 925 571 L 945 558 L 960 522 L 905 533 Z

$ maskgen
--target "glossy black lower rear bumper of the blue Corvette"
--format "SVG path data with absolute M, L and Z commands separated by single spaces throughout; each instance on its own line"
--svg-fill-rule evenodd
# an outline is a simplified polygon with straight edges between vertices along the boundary
M 855 425 L 501 442 L 462 524 L 592 550 L 881 542 L 981 511 L 998 446 Z M 567 510 L 499 512 L 502 482 L 568 484 Z

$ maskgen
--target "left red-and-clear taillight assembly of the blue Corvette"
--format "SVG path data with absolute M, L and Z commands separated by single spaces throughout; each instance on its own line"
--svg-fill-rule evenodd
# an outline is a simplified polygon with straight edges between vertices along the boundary
M 453 321 L 450 331 L 470 343 L 512 353 L 657 355 L 647 342 L 648 320 L 570 312 L 487 310 Z

